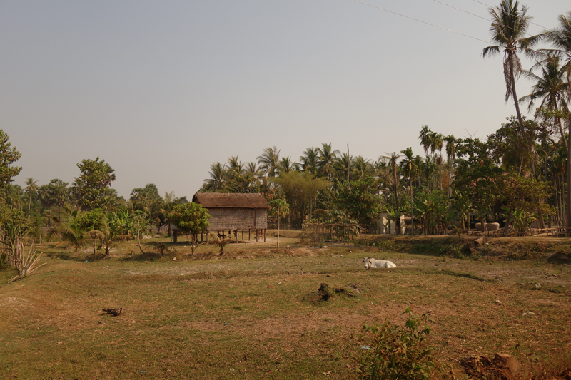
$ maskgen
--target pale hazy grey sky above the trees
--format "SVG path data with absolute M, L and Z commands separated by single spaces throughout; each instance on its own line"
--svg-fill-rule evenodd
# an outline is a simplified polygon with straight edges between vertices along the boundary
M 434 0 L 366 2 L 490 41 L 479 1 L 444 2 L 485 19 Z M 523 4 L 530 34 L 571 11 Z M 0 128 L 22 155 L 16 184 L 71 184 L 99 156 L 119 195 L 155 183 L 190 198 L 211 163 L 273 145 L 295 161 L 321 143 L 377 160 L 423 155 L 422 125 L 484 138 L 515 114 L 502 57 L 482 59 L 491 44 L 355 0 L 1 1 Z

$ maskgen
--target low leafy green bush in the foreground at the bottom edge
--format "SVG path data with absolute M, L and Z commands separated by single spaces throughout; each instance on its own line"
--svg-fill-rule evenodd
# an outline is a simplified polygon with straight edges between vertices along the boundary
M 433 347 L 425 344 L 430 334 L 428 317 L 416 317 L 410 309 L 405 327 L 388 320 L 381 326 L 363 326 L 362 354 L 356 359 L 359 379 L 428 379 L 434 368 Z

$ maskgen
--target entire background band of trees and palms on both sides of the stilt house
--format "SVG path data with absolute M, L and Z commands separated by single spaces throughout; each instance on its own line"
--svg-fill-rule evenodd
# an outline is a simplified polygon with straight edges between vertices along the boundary
M 475 218 L 505 220 L 505 233 L 510 228 L 524 233 L 530 220 L 571 227 L 571 12 L 537 36 L 527 35 L 530 16 L 518 1 L 502 0 L 490 16 L 496 45 L 482 56 L 502 54 L 505 100 L 514 101 L 516 115 L 487 138 L 455 138 L 423 125 L 418 133 L 423 155 L 408 147 L 376 160 L 322 143 L 306 148 L 296 161 L 273 146 L 256 162 L 232 156 L 213 163 L 200 191 L 261 192 L 269 201 L 286 200 L 293 227 L 305 220 L 368 225 L 381 211 L 397 225 L 406 215 L 408 225 L 426 235 L 445 233 L 452 225 L 467 229 Z M 535 60 L 528 70 L 522 68 L 522 54 Z M 520 76 L 533 85 L 518 98 Z M 534 118 L 521 115 L 520 105 L 535 110 Z M 99 158 L 77 163 L 79 176 L 71 185 L 59 179 L 39 185 L 28 178 L 22 188 L 12 183 L 21 170 L 14 166 L 19 153 L 0 132 L 2 220 L 16 220 L 18 214 L 39 228 L 77 217 L 79 225 L 98 230 L 90 220 L 99 213 L 108 226 L 130 225 L 132 234 L 141 223 L 170 225 L 173 207 L 188 202 L 173 192 L 161 197 L 154 184 L 133 189 L 128 200 L 118 197 L 111 188 L 114 170 Z

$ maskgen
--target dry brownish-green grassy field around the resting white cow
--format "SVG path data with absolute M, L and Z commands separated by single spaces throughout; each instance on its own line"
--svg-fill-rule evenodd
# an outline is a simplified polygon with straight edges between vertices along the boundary
M 512 354 L 521 379 L 571 366 L 571 267 L 451 259 L 363 245 L 128 243 L 102 259 L 46 243 L 30 277 L 0 272 L 0 379 L 355 379 L 363 323 L 428 313 L 436 377 L 468 354 Z M 163 240 L 168 241 L 168 240 Z M 91 252 L 92 253 L 92 252 Z M 396 269 L 363 269 L 363 256 Z M 4 278 L 2 278 L 4 277 Z M 358 289 L 319 302 L 321 283 Z M 356 292 L 355 292 L 356 293 Z M 122 307 L 118 317 L 103 308 Z

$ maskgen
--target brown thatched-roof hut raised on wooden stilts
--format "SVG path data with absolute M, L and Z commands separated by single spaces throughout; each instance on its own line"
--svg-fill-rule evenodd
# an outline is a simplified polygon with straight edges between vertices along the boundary
M 261 194 L 236 194 L 228 192 L 197 192 L 192 198 L 208 210 L 212 216 L 208 222 L 208 232 L 217 233 L 220 237 L 226 237 L 224 232 L 234 232 L 238 240 L 238 231 L 248 230 L 248 240 L 251 232 L 256 231 L 256 241 L 261 232 L 266 241 L 266 229 L 268 228 L 268 202 Z

